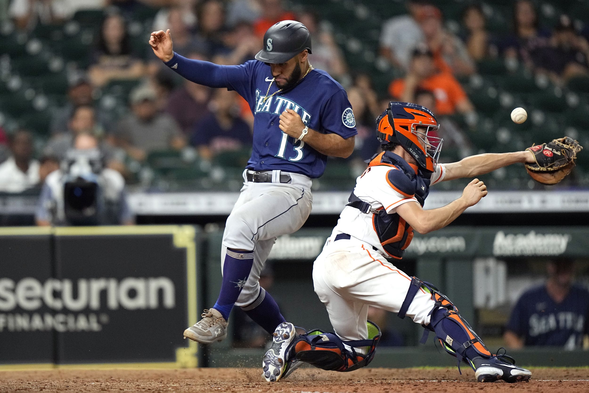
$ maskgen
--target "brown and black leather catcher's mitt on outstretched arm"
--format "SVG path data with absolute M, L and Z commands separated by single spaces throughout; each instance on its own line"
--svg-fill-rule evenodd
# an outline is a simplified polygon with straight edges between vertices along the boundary
M 556 184 L 564 179 L 575 166 L 577 153 L 583 150 L 577 141 L 569 137 L 553 139 L 525 150 L 534 153 L 535 163 L 525 164 L 528 174 L 542 184 Z

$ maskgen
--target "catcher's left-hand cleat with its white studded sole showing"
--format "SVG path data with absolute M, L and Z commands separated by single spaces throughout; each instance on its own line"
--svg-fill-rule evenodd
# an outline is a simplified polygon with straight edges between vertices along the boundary
M 292 323 L 282 322 L 276 327 L 273 333 L 272 347 L 262 359 L 262 371 L 266 381 L 279 381 L 280 378 L 287 377 L 300 366 L 300 362 L 290 362 L 286 358 L 287 350 L 296 337 L 297 333 Z

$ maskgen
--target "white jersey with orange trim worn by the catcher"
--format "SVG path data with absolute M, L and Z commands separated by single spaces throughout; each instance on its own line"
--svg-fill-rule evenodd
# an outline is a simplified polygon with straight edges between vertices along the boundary
M 388 173 L 391 170 L 398 170 L 391 166 L 370 166 L 356 179 L 354 194 L 363 202 L 370 204 L 372 209 L 385 209 L 387 213 L 395 213 L 395 209 L 403 203 L 418 202 L 415 195 L 403 192 L 389 181 Z M 432 173 L 431 183 L 439 183 L 444 180 L 446 170 L 444 164 L 437 164 L 435 172 Z M 360 212 L 355 207 L 346 206 L 337 220 L 332 235 L 347 233 L 348 235 L 376 247 L 378 252 L 388 256 L 376 235 L 372 222 L 372 214 Z

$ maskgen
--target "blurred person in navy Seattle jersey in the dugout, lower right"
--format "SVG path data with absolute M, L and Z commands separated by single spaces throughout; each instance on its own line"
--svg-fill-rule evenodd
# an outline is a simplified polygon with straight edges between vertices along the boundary
M 573 261 L 552 260 L 546 270 L 546 283 L 524 292 L 511 311 L 505 342 L 511 348 L 589 349 L 589 291 L 573 282 Z

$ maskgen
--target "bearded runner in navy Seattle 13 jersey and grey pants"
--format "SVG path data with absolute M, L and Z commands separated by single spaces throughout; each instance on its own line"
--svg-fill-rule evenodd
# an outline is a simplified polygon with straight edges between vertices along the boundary
M 327 72 L 309 64 L 311 37 L 296 21 L 268 29 L 256 60 L 216 65 L 173 52 L 170 30 L 151 33 L 155 55 L 190 81 L 235 90 L 254 114 L 253 152 L 244 186 L 223 233 L 223 283 L 215 305 L 184 336 L 203 344 L 227 336 L 234 305 L 267 332 L 284 322 L 258 280 L 277 236 L 298 230 L 311 212 L 311 179 L 327 156 L 348 157 L 356 122 L 348 96 Z

